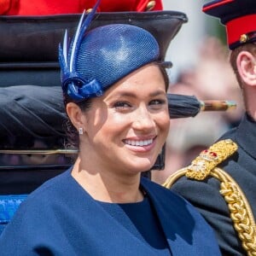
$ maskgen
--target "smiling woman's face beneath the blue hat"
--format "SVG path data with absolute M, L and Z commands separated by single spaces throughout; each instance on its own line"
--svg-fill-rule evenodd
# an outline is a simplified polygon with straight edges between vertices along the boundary
M 93 99 L 84 119 L 80 155 L 85 167 L 148 171 L 166 141 L 170 123 L 160 68 L 147 65 L 113 84 Z

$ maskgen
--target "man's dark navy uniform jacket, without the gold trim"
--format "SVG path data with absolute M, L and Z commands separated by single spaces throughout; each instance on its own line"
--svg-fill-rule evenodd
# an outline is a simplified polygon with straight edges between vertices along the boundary
M 254 219 L 256 218 L 256 122 L 247 114 L 241 124 L 224 134 L 219 140 L 230 138 L 238 145 L 238 150 L 218 167 L 228 172 L 241 187 L 247 197 Z M 213 177 L 204 181 L 181 177 L 171 188 L 194 204 L 211 224 L 218 237 L 223 255 L 242 256 L 247 253 L 241 247 L 230 218 L 230 211 L 219 193 L 219 182 Z

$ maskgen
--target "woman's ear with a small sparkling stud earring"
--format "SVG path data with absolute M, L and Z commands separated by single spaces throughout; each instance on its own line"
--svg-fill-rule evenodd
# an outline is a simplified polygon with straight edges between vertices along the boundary
M 66 106 L 66 111 L 70 121 L 72 122 L 73 126 L 76 127 L 77 131 L 80 132 L 81 129 L 83 129 L 82 131 L 84 131 L 85 117 L 81 108 L 79 108 L 76 103 L 68 102 Z

